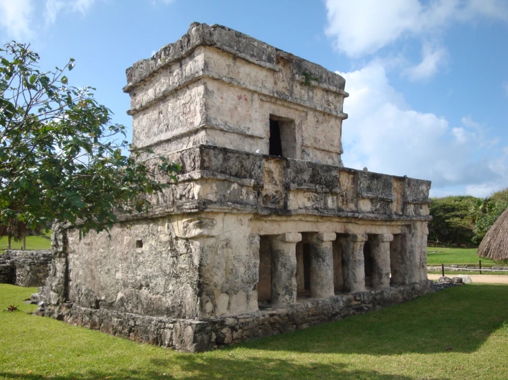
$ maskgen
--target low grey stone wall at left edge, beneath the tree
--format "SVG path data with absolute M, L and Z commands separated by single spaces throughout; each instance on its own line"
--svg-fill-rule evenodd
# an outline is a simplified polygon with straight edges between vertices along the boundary
M 51 259 L 49 250 L 6 250 L 0 255 L 0 283 L 43 286 Z

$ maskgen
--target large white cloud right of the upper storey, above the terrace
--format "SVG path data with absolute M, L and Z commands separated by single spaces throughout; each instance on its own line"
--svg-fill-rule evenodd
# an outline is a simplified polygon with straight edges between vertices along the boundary
M 452 127 L 443 117 L 413 110 L 377 62 L 340 75 L 350 93 L 342 130 L 347 167 L 432 180 L 434 195 L 450 188 L 480 193 L 508 183 L 507 152 L 487 147 L 483 126 L 471 117 Z

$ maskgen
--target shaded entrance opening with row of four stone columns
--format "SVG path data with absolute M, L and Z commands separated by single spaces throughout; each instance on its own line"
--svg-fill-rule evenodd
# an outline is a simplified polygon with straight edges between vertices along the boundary
M 408 283 L 406 235 L 285 233 L 260 236 L 258 305 Z

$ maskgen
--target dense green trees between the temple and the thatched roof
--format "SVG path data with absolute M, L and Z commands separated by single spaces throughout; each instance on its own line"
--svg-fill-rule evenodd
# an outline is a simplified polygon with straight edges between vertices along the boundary
M 456 246 L 478 245 L 506 209 L 508 188 L 488 198 L 470 195 L 432 198 L 429 241 Z

